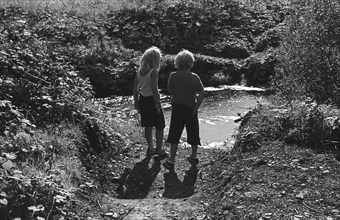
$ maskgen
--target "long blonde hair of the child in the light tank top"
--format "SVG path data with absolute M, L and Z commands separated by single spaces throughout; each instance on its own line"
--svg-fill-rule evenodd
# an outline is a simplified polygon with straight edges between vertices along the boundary
M 139 62 L 138 71 L 145 73 L 150 69 L 159 70 L 162 52 L 158 47 L 152 46 L 147 49 Z

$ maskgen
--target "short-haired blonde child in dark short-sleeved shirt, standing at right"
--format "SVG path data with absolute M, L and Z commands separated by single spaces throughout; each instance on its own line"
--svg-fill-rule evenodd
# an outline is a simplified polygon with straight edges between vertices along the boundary
M 204 87 L 200 77 L 191 72 L 194 55 L 182 50 L 175 57 L 178 71 L 169 76 L 168 90 L 171 94 L 171 121 L 167 142 L 171 145 L 170 158 L 163 164 L 166 169 L 173 170 L 178 143 L 184 126 L 187 141 L 191 145 L 191 155 L 187 158 L 192 165 L 198 164 L 197 149 L 200 143 L 197 111 L 203 102 Z

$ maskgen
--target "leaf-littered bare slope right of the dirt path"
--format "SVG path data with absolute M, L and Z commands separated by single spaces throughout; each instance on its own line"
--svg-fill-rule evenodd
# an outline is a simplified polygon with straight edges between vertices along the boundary
M 334 153 L 269 142 L 217 161 L 212 219 L 340 219 L 340 163 Z

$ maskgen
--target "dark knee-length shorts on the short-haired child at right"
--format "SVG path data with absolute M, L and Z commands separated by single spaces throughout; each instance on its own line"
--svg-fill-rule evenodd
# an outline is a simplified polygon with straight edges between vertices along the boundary
M 193 108 L 172 103 L 168 143 L 178 144 L 185 126 L 188 144 L 201 145 L 197 113 L 192 116 L 192 112 Z

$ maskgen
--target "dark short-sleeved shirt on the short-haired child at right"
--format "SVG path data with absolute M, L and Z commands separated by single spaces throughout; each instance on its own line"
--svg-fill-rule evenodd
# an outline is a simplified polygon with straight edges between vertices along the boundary
M 172 102 L 194 107 L 196 94 L 204 90 L 200 77 L 192 72 L 173 72 L 169 76 L 168 90 L 172 95 Z

